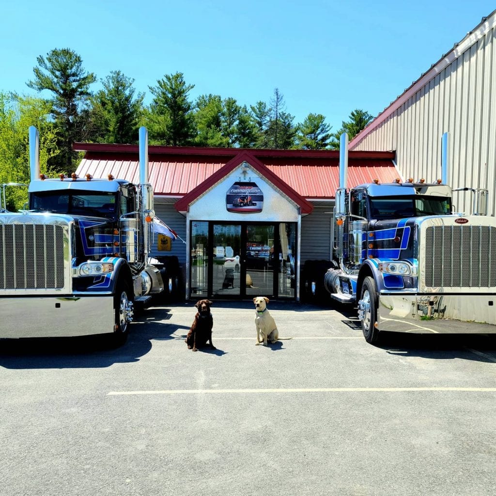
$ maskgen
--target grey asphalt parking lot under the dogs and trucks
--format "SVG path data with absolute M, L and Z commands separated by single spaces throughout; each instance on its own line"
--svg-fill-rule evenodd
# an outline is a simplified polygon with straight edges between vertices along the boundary
M 214 302 L 152 308 L 128 342 L 0 342 L 2 494 L 496 494 L 496 349 L 487 336 L 365 342 L 355 312 Z M 84 316 L 82 316 L 82 322 Z

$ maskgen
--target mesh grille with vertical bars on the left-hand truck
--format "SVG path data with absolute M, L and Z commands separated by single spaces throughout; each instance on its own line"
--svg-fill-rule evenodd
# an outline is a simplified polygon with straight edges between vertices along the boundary
M 64 287 L 64 229 L 61 225 L 0 225 L 0 256 L 0 288 Z

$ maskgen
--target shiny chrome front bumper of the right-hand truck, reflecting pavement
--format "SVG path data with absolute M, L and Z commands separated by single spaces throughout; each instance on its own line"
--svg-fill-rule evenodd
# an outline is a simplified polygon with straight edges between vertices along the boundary
M 378 328 L 413 334 L 496 334 L 496 295 L 380 294 Z

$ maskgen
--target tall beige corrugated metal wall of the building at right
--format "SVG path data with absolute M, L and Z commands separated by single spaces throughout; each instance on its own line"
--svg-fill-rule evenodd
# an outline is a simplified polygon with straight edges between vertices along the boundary
M 472 46 L 351 143 L 352 150 L 396 150 L 405 178 L 434 181 L 441 176 L 441 136 L 449 131 L 451 186 L 488 187 L 491 215 L 496 214 L 495 16 Z M 472 196 L 454 194 L 457 210 L 471 212 Z

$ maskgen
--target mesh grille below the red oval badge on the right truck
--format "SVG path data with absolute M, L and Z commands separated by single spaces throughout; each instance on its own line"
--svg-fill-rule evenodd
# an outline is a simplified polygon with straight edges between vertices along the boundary
M 496 228 L 428 227 L 424 274 L 428 288 L 496 287 Z

